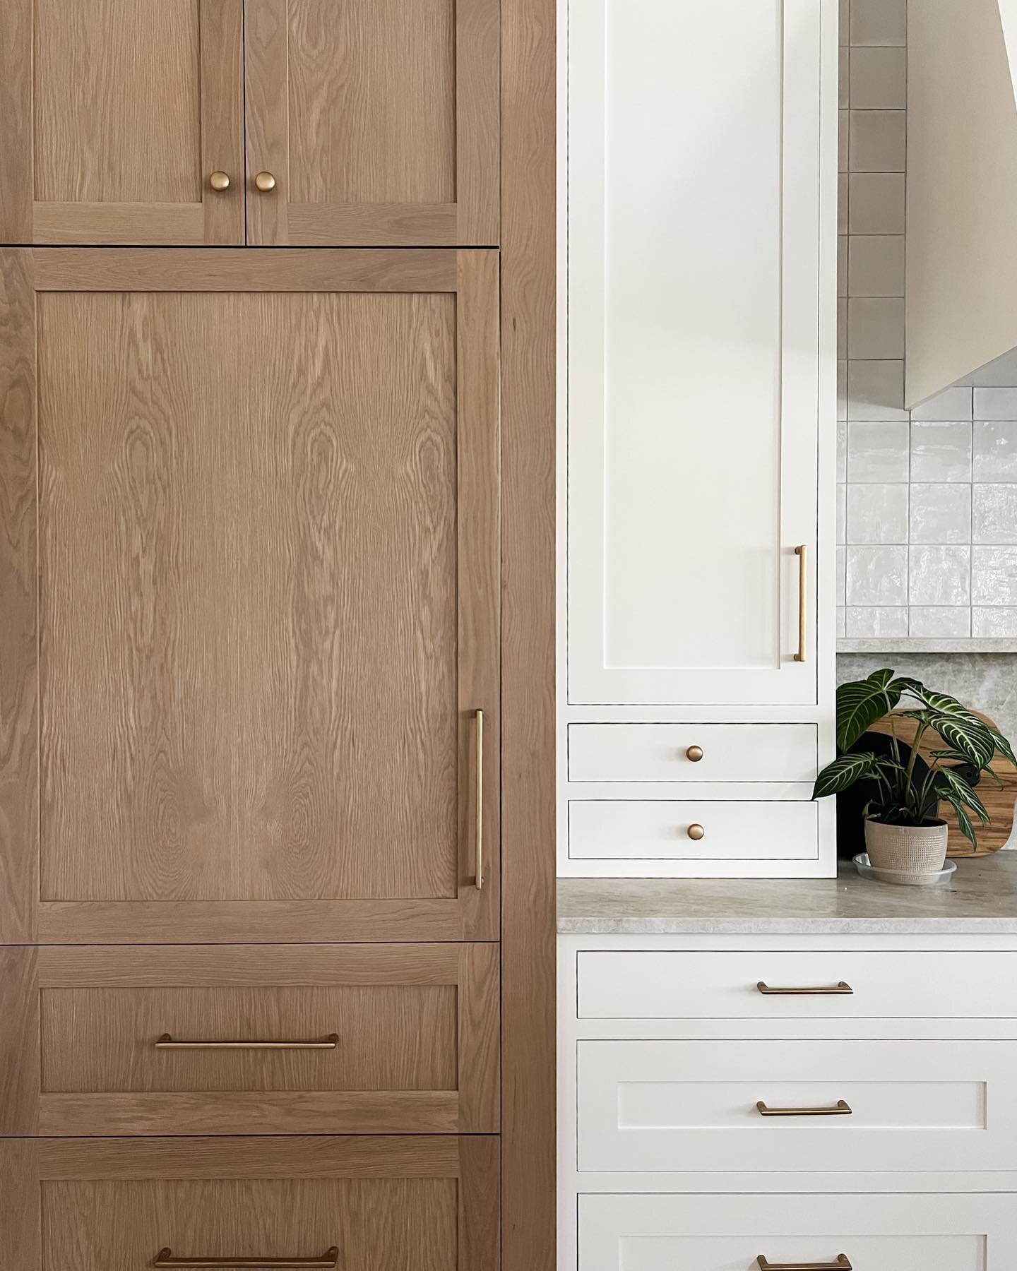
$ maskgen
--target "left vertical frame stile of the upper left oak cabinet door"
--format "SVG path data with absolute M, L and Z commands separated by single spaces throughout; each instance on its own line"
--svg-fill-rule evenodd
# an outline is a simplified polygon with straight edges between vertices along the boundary
M 32 3 L 5 0 L 0 39 L 0 243 L 32 241 Z

